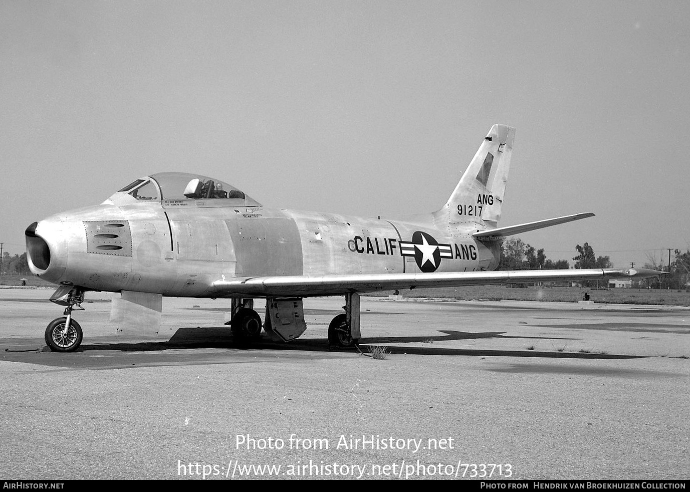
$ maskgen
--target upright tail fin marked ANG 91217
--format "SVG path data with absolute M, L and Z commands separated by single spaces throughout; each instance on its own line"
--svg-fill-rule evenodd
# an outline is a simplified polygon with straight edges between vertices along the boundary
M 434 213 L 440 226 L 495 228 L 501 218 L 501 206 L 508 180 L 515 128 L 494 125 L 467 166 L 460 182 L 446 204 Z

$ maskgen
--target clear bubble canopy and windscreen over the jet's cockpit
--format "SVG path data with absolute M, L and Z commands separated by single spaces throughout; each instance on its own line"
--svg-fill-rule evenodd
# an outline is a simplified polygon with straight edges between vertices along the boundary
M 173 201 L 197 202 L 199 205 L 209 206 L 231 203 L 259 205 L 231 184 L 191 173 L 157 173 L 143 177 L 116 193 L 119 196 L 124 194 L 137 201 L 163 201 L 164 205 Z

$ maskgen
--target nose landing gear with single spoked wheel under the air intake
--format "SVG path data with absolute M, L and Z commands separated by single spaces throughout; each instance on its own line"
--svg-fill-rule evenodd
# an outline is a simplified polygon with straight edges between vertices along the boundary
M 67 292 L 67 290 L 69 291 Z M 74 352 L 81 345 L 83 333 L 81 326 L 72 319 L 72 310 L 83 311 L 81 303 L 84 291 L 78 287 L 61 287 L 50 296 L 50 301 L 59 306 L 66 306 L 64 317 L 52 320 L 46 328 L 46 345 L 53 352 Z

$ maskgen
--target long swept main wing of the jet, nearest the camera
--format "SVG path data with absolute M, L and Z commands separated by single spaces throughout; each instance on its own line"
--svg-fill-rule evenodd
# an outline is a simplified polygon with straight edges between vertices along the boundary
M 306 277 L 245 277 L 213 282 L 213 297 L 291 295 L 308 297 L 341 295 L 348 292 L 375 292 L 397 288 L 457 287 L 480 284 L 527 284 L 532 282 L 560 282 L 571 280 L 602 280 L 653 277 L 663 272 L 646 268 L 575 270 L 511 270 L 487 272 L 436 273 L 359 273 L 355 275 L 323 275 Z

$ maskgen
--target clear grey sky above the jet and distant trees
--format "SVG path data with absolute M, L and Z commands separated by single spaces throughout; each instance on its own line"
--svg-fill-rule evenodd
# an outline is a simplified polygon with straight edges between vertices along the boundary
M 163 171 L 276 208 L 440 208 L 517 128 L 499 226 L 550 259 L 690 248 L 686 1 L 0 0 L 0 242 Z

